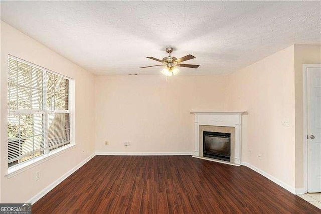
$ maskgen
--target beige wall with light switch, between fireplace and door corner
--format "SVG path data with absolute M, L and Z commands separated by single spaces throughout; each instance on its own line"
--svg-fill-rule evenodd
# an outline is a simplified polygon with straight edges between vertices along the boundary
M 294 187 L 294 46 L 227 80 L 229 109 L 248 112 L 242 116 L 242 161 Z M 282 125 L 285 118 L 289 127 Z

